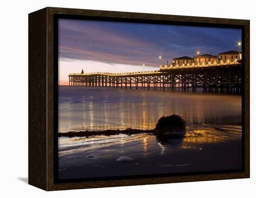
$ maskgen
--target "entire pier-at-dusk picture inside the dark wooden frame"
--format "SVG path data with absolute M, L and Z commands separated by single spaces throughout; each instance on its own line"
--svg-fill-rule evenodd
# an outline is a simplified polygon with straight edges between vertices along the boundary
M 242 30 L 58 20 L 58 179 L 239 172 Z

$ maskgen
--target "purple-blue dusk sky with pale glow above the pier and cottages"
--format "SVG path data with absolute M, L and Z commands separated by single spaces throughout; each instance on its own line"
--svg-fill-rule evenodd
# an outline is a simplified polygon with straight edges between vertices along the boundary
M 59 84 L 67 85 L 68 73 L 82 69 L 85 73 L 159 70 L 166 60 L 193 57 L 197 49 L 213 55 L 238 50 L 240 40 L 240 29 L 60 19 Z

